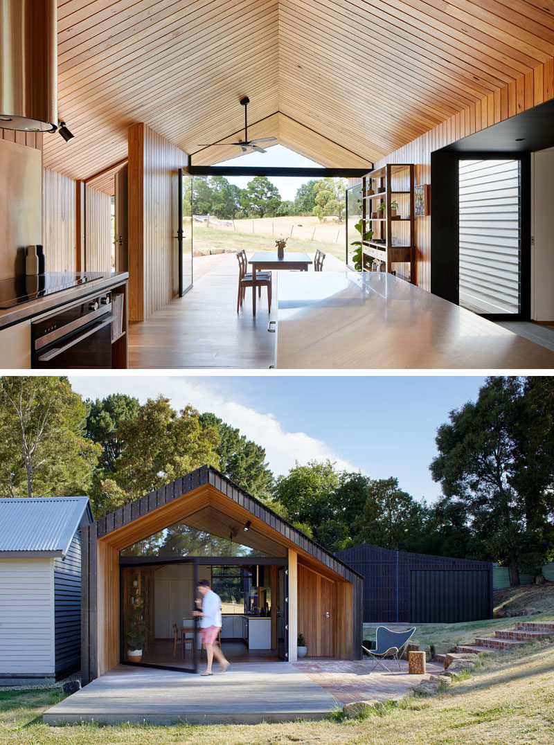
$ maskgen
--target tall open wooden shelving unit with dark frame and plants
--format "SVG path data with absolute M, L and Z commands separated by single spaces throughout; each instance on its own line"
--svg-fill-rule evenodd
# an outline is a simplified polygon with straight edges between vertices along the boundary
M 365 235 L 373 230 L 371 241 L 362 241 L 362 270 L 374 270 L 374 259 L 380 270 L 397 274 L 410 282 L 415 280 L 415 165 L 388 163 L 366 174 L 363 180 L 362 227 Z M 372 193 L 371 193 L 372 192 Z M 391 215 L 391 203 L 397 202 L 397 215 Z M 384 205 L 385 217 L 379 214 Z M 383 214 L 381 210 L 381 214 Z M 393 267 L 393 264 L 403 264 Z M 409 267 L 409 271 L 407 271 Z

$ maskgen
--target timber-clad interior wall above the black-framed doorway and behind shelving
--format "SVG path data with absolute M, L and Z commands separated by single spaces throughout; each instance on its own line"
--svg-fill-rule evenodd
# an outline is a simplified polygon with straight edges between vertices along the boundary
M 521 75 L 507 86 L 489 93 L 485 98 L 463 109 L 446 121 L 433 127 L 403 148 L 394 150 L 375 163 L 380 168 L 385 163 L 415 163 L 415 183 L 431 183 L 431 153 L 456 140 L 498 124 L 522 111 L 532 109 L 554 98 L 554 59 L 537 66 L 532 72 Z M 432 209 L 432 198 L 431 198 Z M 431 289 L 431 218 L 415 221 L 415 283 L 424 290 Z M 409 266 L 399 266 L 407 275 Z

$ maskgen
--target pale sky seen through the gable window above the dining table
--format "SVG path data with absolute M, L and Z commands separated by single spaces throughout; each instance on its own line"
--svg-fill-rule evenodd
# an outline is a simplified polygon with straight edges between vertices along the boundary
M 295 153 L 294 150 L 283 147 L 283 145 L 272 145 L 265 153 L 247 153 L 246 155 L 224 160 L 215 165 L 228 165 L 235 168 L 323 168 L 319 163 L 305 158 L 303 155 Z M 236 184 L 239 188 L 245 188 L 251 180 L 251 176 L 226 176 L 227 181 Z M 296 196 L 296 190 L 300 184 L 309 181 L 309 179 L 298 179 L 293 177 L 279 176 L 269 179 L 271 183 L 279 189 L 283 201 L 292 202 Z

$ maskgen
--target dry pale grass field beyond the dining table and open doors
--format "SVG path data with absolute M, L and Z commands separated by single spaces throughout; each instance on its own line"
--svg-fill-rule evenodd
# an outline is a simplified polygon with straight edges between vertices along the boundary
M 193 228 L 193 248 L 195 252 L 210 253 L 210 250 L 224 249 L 225 251 L 240 251 L 244 249 L 249 255 L 256 251 L 276 251 L 275 238 L 268 235 L 248 235 L 247 232 L 233 232 L 195 225 Z M 286 244 L 286 251 L 295 253 L 315 253 L 320 249 L 325 253 L 336 256 L 344 261 L 344 242 L 340 244 L 325 243 L 324 241 L 305 241 L 290 238 Z

